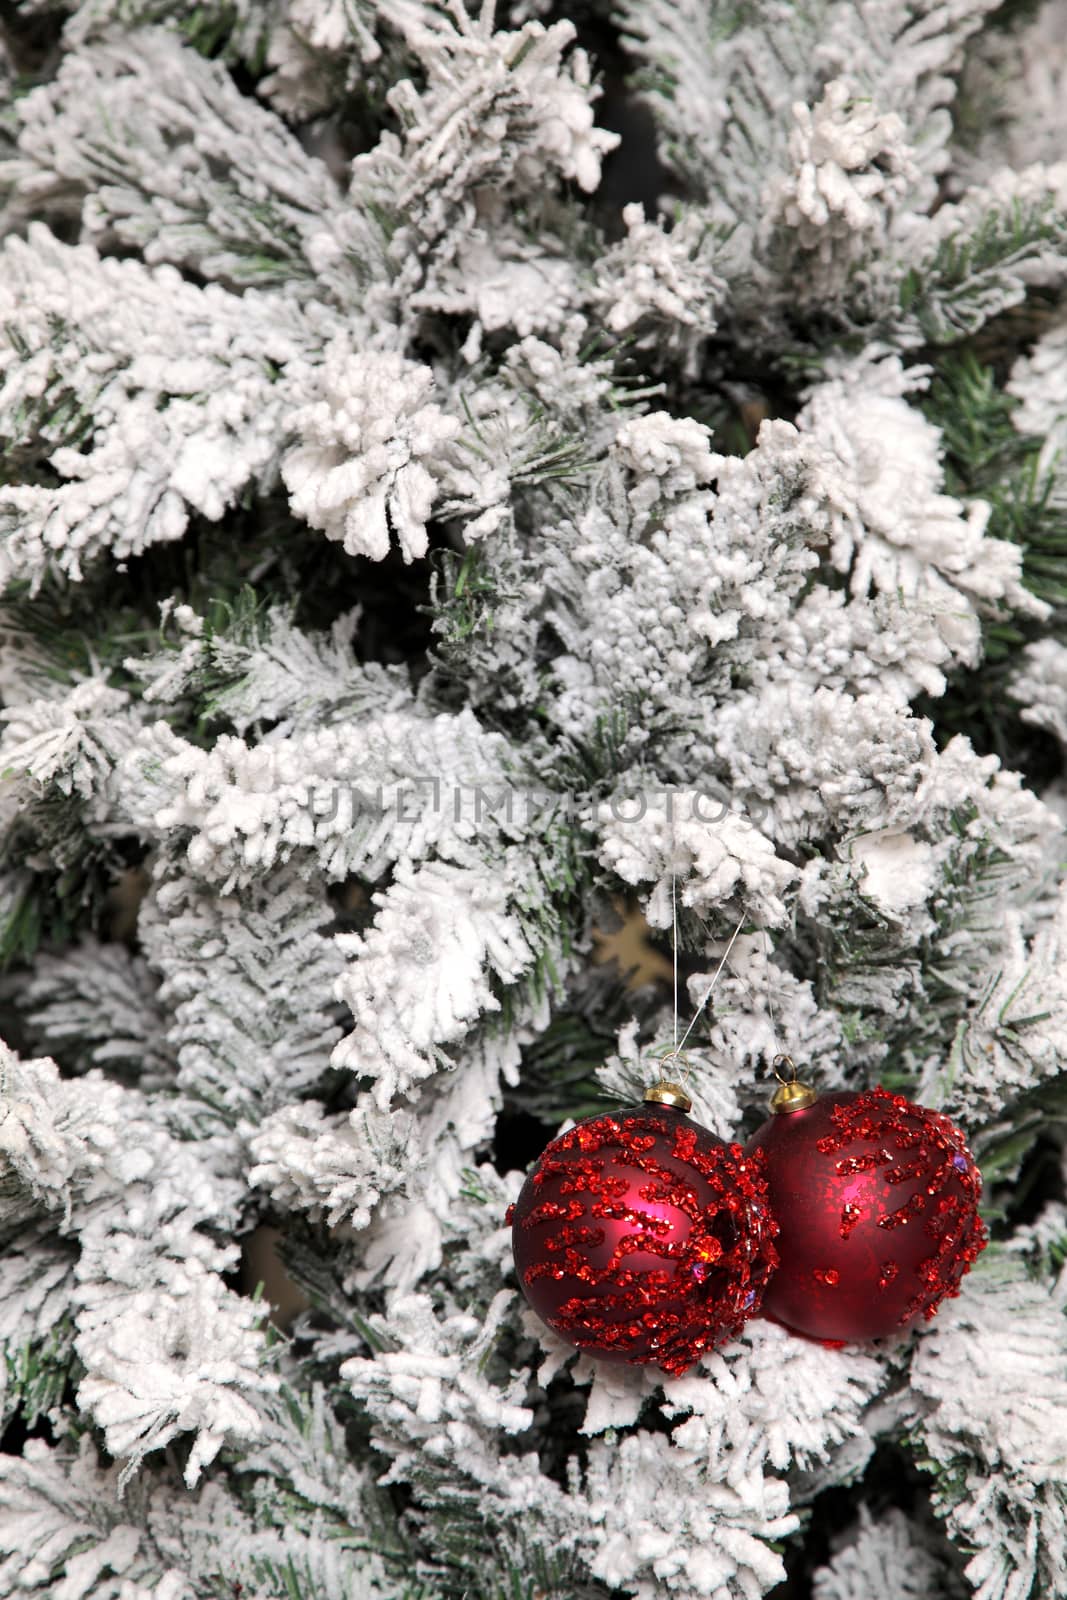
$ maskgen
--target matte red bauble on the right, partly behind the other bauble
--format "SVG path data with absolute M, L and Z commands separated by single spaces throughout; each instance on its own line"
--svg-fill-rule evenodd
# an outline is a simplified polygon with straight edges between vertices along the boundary
M 877 1088 L 765 1122 L 781 1266 L 763 1314 L 817 1339 L 880 1339 L 958 1294 L 985 1246 L 982 1178 L 947 1117 Z

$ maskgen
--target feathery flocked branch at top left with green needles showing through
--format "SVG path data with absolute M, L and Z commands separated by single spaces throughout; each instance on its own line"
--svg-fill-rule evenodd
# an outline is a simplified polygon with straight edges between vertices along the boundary
M 211 278 L 314 280 L 307 258 L 341 198 L 326 166 L 173 34 L 69 54 L 18 115 L 16 195 L 40 206 L 54 189 L 69 206 L 83 194 L 90 240 L 114 230 L 152 264 L 189 262 Z

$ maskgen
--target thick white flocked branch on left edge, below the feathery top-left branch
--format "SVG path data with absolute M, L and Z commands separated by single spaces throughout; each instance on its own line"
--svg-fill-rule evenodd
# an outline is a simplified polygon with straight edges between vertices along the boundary
M 61 480 L 0 490 L 8 579 L 37 584 L 53 563 L 77 578 L 102 550 L 179 539 L 190 509 L 219 518 L 270 480 L 283 422 L 269 365 L 301 349 L 288 301 L 101 259 L 42 224 L 5 242 L 0 285 L 0 437 L 38 438 Z

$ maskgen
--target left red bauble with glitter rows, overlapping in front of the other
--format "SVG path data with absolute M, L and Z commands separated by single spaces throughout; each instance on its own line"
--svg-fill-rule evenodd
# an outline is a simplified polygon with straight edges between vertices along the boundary
M 509 1221 L 518 1282 L 550 1328 L 669 1373 L 737 1333 L 777 1261 L 761 1158 L 669 1106 L 560 1134 Z

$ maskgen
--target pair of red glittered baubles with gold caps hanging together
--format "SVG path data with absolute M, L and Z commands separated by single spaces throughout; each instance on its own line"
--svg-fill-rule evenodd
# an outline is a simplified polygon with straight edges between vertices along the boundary
M 569 1344 L 685 1373 L 761 1314 L 829 1342 L 929 1318 L 985 1245 L 947 1117 L 784 1083 L 747 1146 L 656 1083 L 549 1144 L 509 1211 L 518 1282 Z

